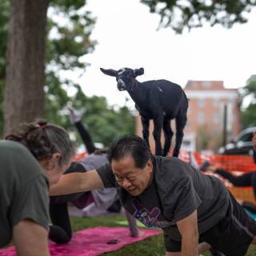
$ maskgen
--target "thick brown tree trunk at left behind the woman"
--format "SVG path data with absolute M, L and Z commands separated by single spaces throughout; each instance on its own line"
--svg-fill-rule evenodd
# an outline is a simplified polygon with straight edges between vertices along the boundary
M 7 46 L 4 134 L 42 118 L 45 94 L 47 0 L 11 0 Z

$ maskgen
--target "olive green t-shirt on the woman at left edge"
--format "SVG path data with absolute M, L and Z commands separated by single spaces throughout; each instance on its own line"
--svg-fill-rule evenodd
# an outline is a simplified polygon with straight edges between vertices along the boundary
M 0 247 L 13 227 L 30 219 L 48 229 L 48 181 L 30 151 L 18 142 L 0 140 Z

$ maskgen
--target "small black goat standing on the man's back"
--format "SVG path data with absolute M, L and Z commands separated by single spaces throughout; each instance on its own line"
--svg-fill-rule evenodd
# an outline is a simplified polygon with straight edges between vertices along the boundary
M 144 69 L 123 68 L 121 70 L 104 70 L 104 74 L 115 77 L 118 90 L 127 90 L 134 100 L 135 106 L 141 114 L 142 134 L 146 143 L 149 143 L 150 119 L 154 122 L 155 154 L 166 156 L 170 150 L 171 139 L 174 132 L 171 130 L 171 119 L 176 120 L 176 143 L 174 157 L 178 157 L 183 129 L 186 126 L 186 110 L 188 101 L 181 86 L 167 80 L 154 80 L 138 82 L 135 78 L 144 74 Z M 165 145 L 162 150 L 161 130 L 165 135 Z

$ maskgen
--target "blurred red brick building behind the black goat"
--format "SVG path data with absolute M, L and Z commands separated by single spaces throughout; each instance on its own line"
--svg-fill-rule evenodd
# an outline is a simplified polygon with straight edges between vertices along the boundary
M 182 142 L 183 149 L 217 150 L 221 146 L 225 105 L 228 139 L 238 134 L 240 131 L 238 90 L 224 88 L 222 81 L 188 81 L 184 90 L 189 98 L 189 109 Z M 152 129 L 153 124 L 150 122 L 150 145 L 154 150 Z M 175 130 L 174 121 L 172 129 Z M 142 136 L 140 117 L 136 122 L 136 134 Z M 172 146 L 174 146 L 174 138 Z

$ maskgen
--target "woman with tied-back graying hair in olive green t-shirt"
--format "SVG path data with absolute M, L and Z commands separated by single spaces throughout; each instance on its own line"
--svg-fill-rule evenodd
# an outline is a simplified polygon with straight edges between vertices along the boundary
M 40 120 L 0 141 L 0 247 L 13 238 L 18 255 L 50 255 L 49 185 L 70 166 L 66 130 Z

